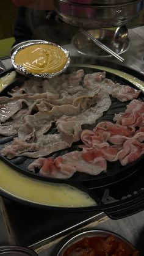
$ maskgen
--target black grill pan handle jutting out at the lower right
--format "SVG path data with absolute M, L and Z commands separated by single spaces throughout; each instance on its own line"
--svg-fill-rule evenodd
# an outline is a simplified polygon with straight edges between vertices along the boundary
M 101 210 L 103 210 L 110 219 L 121 219 L 139 213 L 144 210 L 144 192 L 124 199 L 122 202 L 104 205 L 101 207 Z

